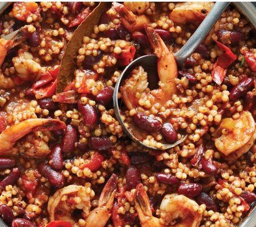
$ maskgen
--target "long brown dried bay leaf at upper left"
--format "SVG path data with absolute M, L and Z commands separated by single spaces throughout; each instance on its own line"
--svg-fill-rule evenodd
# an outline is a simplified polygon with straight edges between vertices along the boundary
M 83 36 L 90 36 L 93 28 L 98 24 L 103 11 L 106 10 L 108 2 L 100 2 L 89 16 L 74 31 L 72 39 L 66 45 L 64 56 L 61 60 L 60 72 L 58 73 L 56 93 L 62 93 L 68 83 L 73 81 L 75 59 L 74 56 L 83 43 Z

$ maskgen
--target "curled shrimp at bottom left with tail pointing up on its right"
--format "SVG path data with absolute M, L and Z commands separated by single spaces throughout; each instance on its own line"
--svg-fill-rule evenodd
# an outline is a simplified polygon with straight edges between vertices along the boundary
M 94 195 L 90 186 L 75 184 L 57 190 L 48 201 L 50 221 L 64 220 L 75 224 L 72 216 L 74 209 L 81 209 L 85 218 L 86 227 L 104 227 L 110 218 L 111 208 L 116 194 L 117 176 L 112 174 L 99 197 L 98 207 L 91 209 L 91 198 Z

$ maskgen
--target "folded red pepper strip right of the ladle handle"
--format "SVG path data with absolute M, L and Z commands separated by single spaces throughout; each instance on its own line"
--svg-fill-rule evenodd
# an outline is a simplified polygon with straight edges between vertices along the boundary
M 221 85 L 226 75 L 226 69 L 237 59 L 237 57 L 224 44 L 218 41 L 216 41 L 216 44 L 219 49 L 224 51 L 224 53 L 217 58 L 217 61 L 213 66 L 212 79 L 217 85 Z

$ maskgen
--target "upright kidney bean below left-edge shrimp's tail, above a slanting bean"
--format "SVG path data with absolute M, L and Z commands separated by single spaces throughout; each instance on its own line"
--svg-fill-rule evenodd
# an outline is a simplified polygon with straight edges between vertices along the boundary
M 64 163 L 63 163 L 63 154 L 60 144 L 56 144 L 53 146 L 51 153 L 50 153 L 50 160 L 49 165 L 53 167 L 55 170 L 61 170 Z

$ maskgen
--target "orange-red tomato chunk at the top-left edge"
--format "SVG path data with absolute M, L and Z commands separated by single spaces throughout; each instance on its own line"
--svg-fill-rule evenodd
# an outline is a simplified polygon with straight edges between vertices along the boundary
M 12 12 L 16 19 L 26 22 L 28 16 L 40 13 L 40 7 L 36 2 L 14 2 Z

